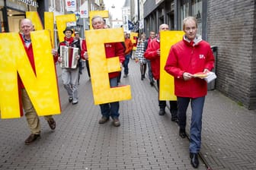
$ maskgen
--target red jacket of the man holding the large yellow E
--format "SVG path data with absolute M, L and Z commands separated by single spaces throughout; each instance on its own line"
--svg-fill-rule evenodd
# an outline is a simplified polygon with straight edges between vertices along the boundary
M 104 46 L 105 46 L 106 58 L 118 56 L 120 63 L 123 63 L 125 58 L 124 58 L 124 48 L 121 42 L 105 43 Z M 81 56 L 84 56 L 85 52 L 87 52 L 87 46 L 86 46 L 85 39 L 83 39 Z M 110 78 L 118 77 L 119 75 L 120 75 L 120 71 L 116 71 L 108 74 Z

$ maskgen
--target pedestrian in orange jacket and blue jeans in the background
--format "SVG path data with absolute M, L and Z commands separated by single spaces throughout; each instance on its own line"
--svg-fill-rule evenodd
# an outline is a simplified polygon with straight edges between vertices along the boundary
M 123 62 L 123 68 L 124 68 L 123 77 L 126 78 L 128 76 L 128 73 L 129 73 L 128 63 L 130 61 L 130 55 L 131 55 L 131 52 L 133 50 L 133 42 L 129 38 L 129 34 L 126 33 L 126 32 L 124 33 L 124 44 L 126 46 L 126 51 L 124 52 L 125 61 Z

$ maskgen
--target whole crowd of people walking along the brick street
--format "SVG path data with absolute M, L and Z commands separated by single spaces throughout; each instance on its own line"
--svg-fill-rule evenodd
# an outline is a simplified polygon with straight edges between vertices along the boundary
M 94 16 L 91 18 L 91 24 L 94 30 L 107 29 L 104 24 L 104 19 L 101 16 Z M 31 20 L 21 20 L 21 40 L 24 42 L 24 48 L 27 52 L 27 57 L 30 60 L 30 65 L 34 68 L 34 55 L 32 52 L 32 43 L 30 41 L 30 32 L 34 30 Z M 159 89 L 160 80 L 160 32 L 169 30 L 168 24 L 161 24 L 159 26 L 159 33 L 155 36 L 155 31 L 150 32 L 147 39 L 146 33 L 142 33 L 137 39 L 136 51 L 132 55 L 133 43 L 128 33 L 124 33 L 123 42 L 111 42 L 104 45 L 106 58 L 119 56 L 121 67 L 123 67 L 123 77 L 126 78 L 129 73 L 129 60 L 130 58 L 138 58 L 141 80 L 146 78 L 146 68 L 148 65 L 149 82 L 154 86 L 156 81 Z M 191 102 L 192 118 L 190 124 L 190 162 L 194 168 L 199 165 L 198 153 L 201 144 L 201 130 L 202 130 L 202 115 L 203 103 L 207 93 L 207 83 L 205 80 L 194 77 L 197 72 L 208 73 L 213 69 L 214 57 L 211 52 L 210 45 L 203 41 L 197 35 L 197 20 L 194 17 L 187 17 L 183 23 L 184 36 L 180 42 L 171 46 L 168 59 L 165 65 L 165 71 L 174 77 L 174 94 L 177 96 L 178 101 L 170 102 L 171 121 L 175 121 L 179 125 L 179 135 L 184 138 L 187 136 L 185 132 L 187 122 L 187 106 Z M 72 105 L 78 104 L 78 80 L 82 69 L 84 68 L 83 62 L 86 63 L 88 77 L 91 77 L 88 59 L 87 46 L 85 39 L 80 38 L 79 33 L 75 32 L 71 27 L 66 27 L 63 30 L 64 41 L 59 42 L 58 49 L 52 49 L 52 54 L 55 62 L 62 63 L 62 48 L 72 48 L 77 50 L 75 53 L 75 60 L 77 60 L 75 68 L 62 67 L 62 84 L 68 94 L 68 101 Z M 35 68 L 34 68 L 35 71 Z M 121 71 L 109 73 L 110 87 L 117 87 L 120 82 Z M 25 144 L 30 144 L 40 137 L 40 120 L 37 112 L 34 109 L 29 96 L 27 95 L 24 86 L 22 86 L 21 79 L 19 79 L 22 89 L 22 104 L 24 107 L 27 124 L 30 128 L 31 134 L 25 140 Z M 158 96 L 156 96 L 158 97 Z M 155 98 L 156 98 L 155 97 Z M 158 98 L 157 98 L 158 99 Z M 158 99 L 159 112 L 158 115 L 165 115 L 166 101 Z M 110 102 L 100 104 L 101 119 L 99 124 L 104 124 L 113 120 L 112 124 L 115 127 L 120 126 L 120 103 Z M 50 128 L 56 128 L 56 121 L 52 115 L 45 116 Z

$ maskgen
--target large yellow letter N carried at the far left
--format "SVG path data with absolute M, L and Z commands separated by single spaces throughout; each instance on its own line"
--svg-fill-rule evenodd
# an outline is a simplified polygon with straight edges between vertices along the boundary
M 36 74 L 18 33 L 0 33 L 0 111 L 1 118 L 20 118 L 18 74 L 37 115 L 60 113 L 56 70 L 48 30 L 31 32 Z

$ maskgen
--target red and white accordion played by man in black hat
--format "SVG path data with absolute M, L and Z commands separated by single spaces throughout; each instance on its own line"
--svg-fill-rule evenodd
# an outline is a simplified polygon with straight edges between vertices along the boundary
M 75 56 L 79 55 L 79 49 L 70 46 L 60 46 L 60 57 L 62 61 L 60 62 L 61 68 L 76 68 L 78 64 L 78 59 Z

